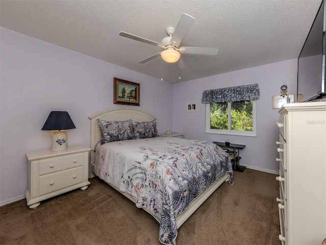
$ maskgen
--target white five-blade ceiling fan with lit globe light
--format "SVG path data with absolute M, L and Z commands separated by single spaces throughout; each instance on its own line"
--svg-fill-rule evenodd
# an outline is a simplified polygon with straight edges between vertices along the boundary
M 176 28 L 167 27 L 166 31 L 168 37 L 162 39 L 161 43 L 154 42 L 142 37 L 135 36 L 126 32 L 120 32 L 120 36 L 127 37 L 136 41 L 144 42 L 150 45 L 161 47 L 164 51 L 156 53 L 146 59 L 139 61 L 138 63 L 144 64 L 148 61 L 151 61 L 159 56 L 168 63 L 175 63 L 179 61 L 179 69 L 184 69 L 185 65 L 181 60 L 181 53 L 183 54 L 195 54 L 195 55 L 217 55 L 219 52 L 218 48 L 213 47 L 186 47 L 181 46 L 181 41 L 185 35 L 189 32 L 190 28 L 193 26 L 195 18 L 188 15 L 182 14 L 179 20 L 179 23 Z

